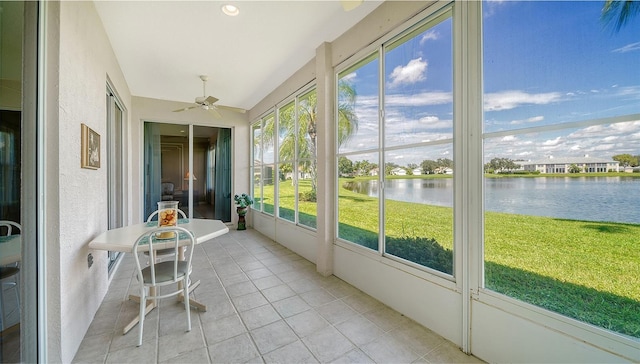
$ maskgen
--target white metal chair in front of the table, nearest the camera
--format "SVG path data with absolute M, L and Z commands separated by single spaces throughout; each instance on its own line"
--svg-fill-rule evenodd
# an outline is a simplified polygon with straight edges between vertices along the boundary
M 159 239 L 159 233 L 174 232 L 174 237 Z M 142 234 L 133 246 L 133 256 L 136 261 L 137 277 L 140 284 L 140 331 L 138 334 L 138 346 L 142 345 L 142 333 L 144 330 L 144 316 L 147 300 L 158 300 L 183 294 L 184 308 L 187 311 L 187 331 L 191 331 L 191 310 L 189 307 L 189 274 L 191 273 L 191 259 L 196 240 L 189 230 L 178 226 L 166 226 L 154 228 Z M 184 260 L 178 258 L 178 250 L 183 246 L 188 247 L 188 254 Z M 149 251 L 151 260 L 148 267 L 142 268 L 140 264 L 141 249 Z M 163 262 L 156 261 L 154 252 L 157 249 L 173 249 L 174 258 Z M 182 284 L 177 284 L 182 283 Z M 159 287 L 171 287 L 175 290 L 160 294 Z M 148 292 L 147 292 L 148 291 Z M 155 303 L 155 302 L 154 302 Z

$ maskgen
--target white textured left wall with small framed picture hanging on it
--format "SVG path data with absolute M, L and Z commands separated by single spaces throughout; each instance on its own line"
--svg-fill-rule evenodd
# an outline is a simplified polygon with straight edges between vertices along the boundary
M 107 229 L 107 77 L 127 108 L 131 96 L 93 3 L 47 8 L 47 346 L 48 361 L 70 362 L 108 288 L 107 253 L 87 264 L 88 242 Z M 101 136 L 98 170 L 80 168 L 81 123 Z

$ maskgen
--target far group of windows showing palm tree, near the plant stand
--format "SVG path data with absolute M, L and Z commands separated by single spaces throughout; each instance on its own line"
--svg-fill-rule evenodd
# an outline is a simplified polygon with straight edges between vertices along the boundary
M 253 193 L 262 201 L 254 208 L 273 214 L 276 204 L 279 218 L 313 229 L 317 227 L 316 105 L 315 88 L 306 90 L 277 108 L 277 121 L 270 113 L 252 126 Z

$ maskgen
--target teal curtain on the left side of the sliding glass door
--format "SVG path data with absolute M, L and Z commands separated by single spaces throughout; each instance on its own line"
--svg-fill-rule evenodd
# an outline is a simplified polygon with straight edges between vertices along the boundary
M 161 190 L 162 156 L 160 127 L 155 123 L 144 123 L 144 219 L 158 209 Z

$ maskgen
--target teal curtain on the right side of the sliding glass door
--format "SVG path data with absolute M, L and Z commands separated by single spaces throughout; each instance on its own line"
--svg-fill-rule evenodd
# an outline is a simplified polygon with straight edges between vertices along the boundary
M 216 143 L 216 219 L 231 221 L 231 129 L 220 129 Z

